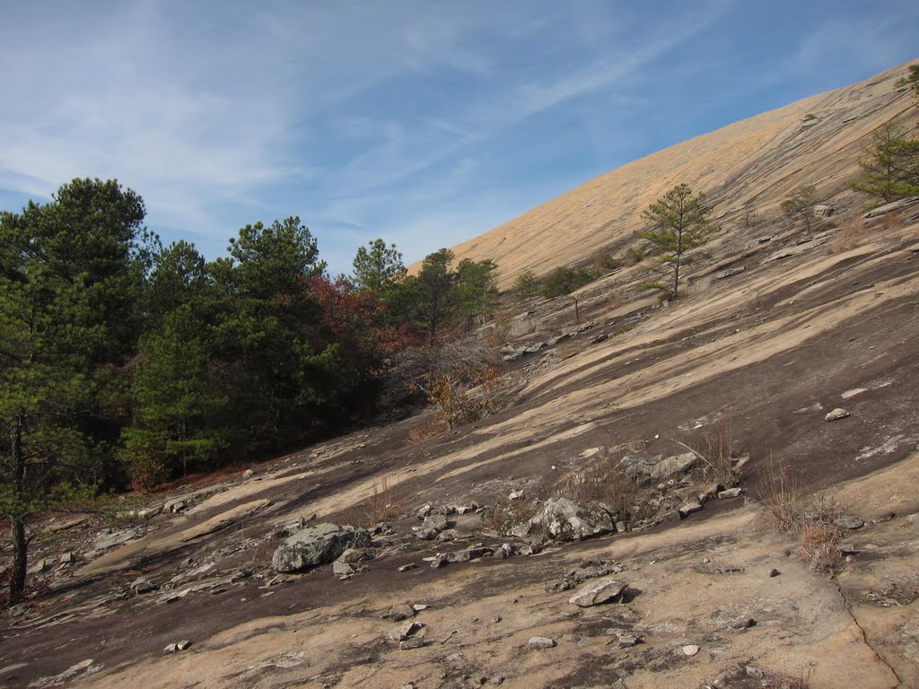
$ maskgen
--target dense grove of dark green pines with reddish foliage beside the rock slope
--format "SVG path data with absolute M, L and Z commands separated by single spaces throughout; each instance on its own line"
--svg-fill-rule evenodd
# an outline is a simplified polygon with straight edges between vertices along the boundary
M 138 194 L 98 179 L 0 213 L 0 518 L 15 546 L 13 598 L 31 515 L 335 433 L 380 411 L 396 353 L 494 308 L 494 262 L 453 265 L 448 249 L 407 276 L 380 239 L 358 249 L 352 275 L 330 277 L 296 217 L 246 225 L 208 261 L 191 243 L 163 246 L 145 216 Z

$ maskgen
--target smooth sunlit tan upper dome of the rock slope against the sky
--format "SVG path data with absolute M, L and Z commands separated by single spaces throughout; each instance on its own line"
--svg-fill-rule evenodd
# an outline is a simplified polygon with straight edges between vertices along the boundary
M 725 230 L 743 224 L 745 209 L 776 214 L 802 185 L 837 203 L 849 195 L 845 181 L 871 133 L 914 109 L 910 93 L 895 85 L 905 71 L 895 67 L 652 153 L 452 250 L 458 261 L 493 259 L 508 288 L 527 269 L 542 276 L 599 253 L 622 254 L 643 226 L 641 211 L 680 182 L 707 195 Z

